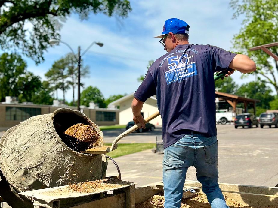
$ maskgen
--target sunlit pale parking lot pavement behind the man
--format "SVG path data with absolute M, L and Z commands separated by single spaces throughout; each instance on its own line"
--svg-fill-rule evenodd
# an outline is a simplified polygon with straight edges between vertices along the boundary
M 218 182 L 258 186 L 278 183 L 278 128 L 235 129 L 233 125 L 218 125 L 217 129 Z M 125 129 L 103 131 L 104 142 L 112 143 L 123 131 Z M 156 136 L 161 136 L 159 126 L 153 132 L 131 133 L 119 143 L 155 144 Z M 134 182 L 136 187 L 162 181 L 162 159 L 163 154 L 151 149 L 114 158 L 122 180 Z M 106 176 L 116 175 L 116 166 L 108 160 Z M 188 169 L 186 179 L 196 180 L 194 167 Z M 4 207 L 9 206 L 5 204 Z

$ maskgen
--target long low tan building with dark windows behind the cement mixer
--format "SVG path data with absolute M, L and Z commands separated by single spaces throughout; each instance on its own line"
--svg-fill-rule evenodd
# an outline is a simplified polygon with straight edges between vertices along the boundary
M 7 99 L 6 99 L 7 101 Z M 114 108 L 98 108 L 81 106 L 81 112 L 97 125 L 116 125 L 119 123 L 119 110 Z M 7 130 L 20 122 L 36 115 L 53 113 L 56 109 L 65 107 L 76 110 L 76 107 L 61 105 L 37 105 L 29 102 L 19 104 L 16 101 L 0 103 L 0 131 Z

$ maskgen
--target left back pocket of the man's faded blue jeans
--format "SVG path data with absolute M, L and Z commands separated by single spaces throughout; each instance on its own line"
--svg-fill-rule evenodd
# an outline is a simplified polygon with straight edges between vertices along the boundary
M 172 144 L 166 148 L 166 163 L 172 167 L 178 167 L 184 164 L 186 159 L 187 146 Z M 165 154 L 165 152 L 164 152 Z

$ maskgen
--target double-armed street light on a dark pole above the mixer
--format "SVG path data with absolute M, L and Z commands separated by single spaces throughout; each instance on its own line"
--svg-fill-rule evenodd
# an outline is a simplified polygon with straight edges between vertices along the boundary
M 72 51 L 73 54 L 75 54 L 73 49 L 66 42 L 63 42 L 63 41 L 60 41 L 60 40 L 57 40 L 57 39 L 51 39 L 51 40 L 49 40 L 49 43 L 52 44 L 52 45 L 53 44 L 63 43 L 67 47 L 69 47 L 69 49 Z M 79 110 L 79 111 L 80 111 L 80 66 L 81 66 L 81 56 L 83 56 L 92 47 L 92 45 L 94 45 L 94 44 L 97 44 L 98 46 L 103 47 L 103 43 L 92 42 L 91 45 L 89 45 L 89 47 L 80 55 L 80 46 L 79 46 L 78 47 L 78 56 L 77 56 L 77 58 L 75 57 L 76 61 L 78 63 L 78 78 L 77 78 L 77 80 L 78 80 L 77 81 L 78 99 L 77 99 L 77 110 Z

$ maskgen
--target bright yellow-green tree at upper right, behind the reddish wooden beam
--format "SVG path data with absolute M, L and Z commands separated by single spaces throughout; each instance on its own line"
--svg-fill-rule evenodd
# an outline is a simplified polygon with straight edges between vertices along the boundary
M 230 5 L 235 10 L 233 18 L 245 15 L 239 34 L 233 37 L 234 47 L 255 61 L 257 70 L 253 74 L 273 85 L 278 95 L 278 62 L 262 50 L 249 51 L 251 47 L 278 42 L 278 1 L 231 0 Z M 270 50 L 278 56 L 277 46 Z

